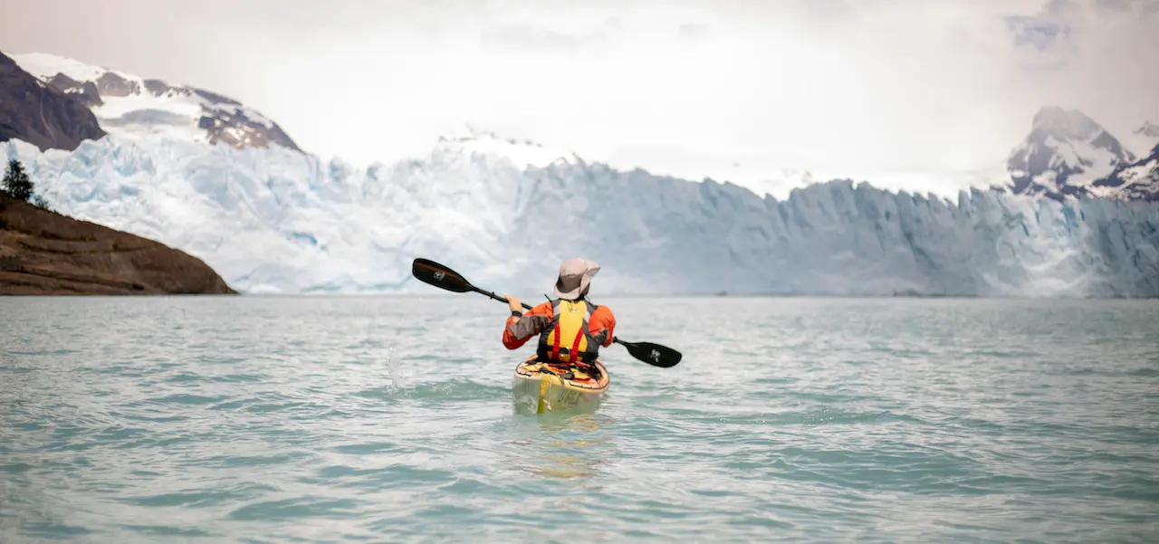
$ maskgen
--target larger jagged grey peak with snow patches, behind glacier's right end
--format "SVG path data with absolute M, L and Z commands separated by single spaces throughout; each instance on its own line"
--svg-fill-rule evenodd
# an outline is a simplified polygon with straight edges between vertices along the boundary
M 1135 155 L 1094 119 L 1078 110 L 1048 106 L 1034 116 L 1030 134 L 1007 161 L 1015 194 L 1115 197 L 1099 184 Z

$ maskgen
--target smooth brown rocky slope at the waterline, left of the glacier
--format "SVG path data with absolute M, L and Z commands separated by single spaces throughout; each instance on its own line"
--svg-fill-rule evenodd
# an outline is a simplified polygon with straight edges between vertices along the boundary
M 201 259 L 0 193 L 0 295 L 235 294 Z

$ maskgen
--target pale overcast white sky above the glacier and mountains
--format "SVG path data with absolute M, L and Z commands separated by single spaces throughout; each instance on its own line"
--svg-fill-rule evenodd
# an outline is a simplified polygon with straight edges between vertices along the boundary
M 783 194 L 956 193 L 1043 105 L 1159 122 L 1159 0 L 0 0 L 0 50 L 232 96 L 356 166 L 457 125 Z

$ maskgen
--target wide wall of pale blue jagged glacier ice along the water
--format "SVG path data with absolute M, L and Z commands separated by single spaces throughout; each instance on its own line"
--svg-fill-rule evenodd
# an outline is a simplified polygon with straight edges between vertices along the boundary
M 582 256 L 604 295 L 1159 296 L 1159 203 L 848 179 L 758 197 L 488 134 L 353 168 L 280 146 L 3 144 L 53 207 L 204 259 L 242 293 L 422 293 L 410 262 L 531 300 Z

